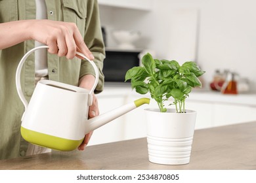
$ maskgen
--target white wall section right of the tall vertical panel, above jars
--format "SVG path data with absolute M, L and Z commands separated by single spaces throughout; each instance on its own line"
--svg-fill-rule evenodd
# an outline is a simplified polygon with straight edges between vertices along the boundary
M 218 0 L 202 4 L 198 61 L 212 69 L 230 68 L 250 78 L 256 90 L 256 1 Z

